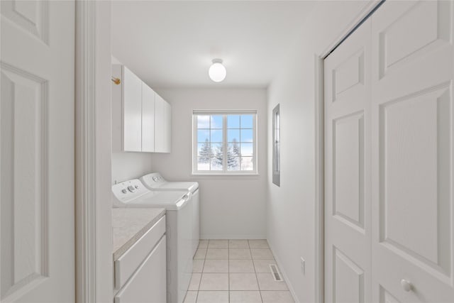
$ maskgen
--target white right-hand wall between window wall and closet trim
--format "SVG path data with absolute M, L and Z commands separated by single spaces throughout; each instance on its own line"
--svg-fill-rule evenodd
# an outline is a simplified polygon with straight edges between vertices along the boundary
M 280 104 L 281 186 L 272 184 L 268 145 L 267 239 L 299 302 L 315 301 L 315 55 L 360 16 L 366 1 L 321 1 L 268 88 L 268 116 Z M 268 136 L 272 138 L 272 126 Z M 300 268 L 306 260 L 306 273 Z

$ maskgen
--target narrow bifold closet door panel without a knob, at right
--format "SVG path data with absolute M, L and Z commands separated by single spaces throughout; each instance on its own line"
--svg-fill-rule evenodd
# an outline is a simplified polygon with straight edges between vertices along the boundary
M 370 302 L 370 21 L 324 63 L 325 299 Z

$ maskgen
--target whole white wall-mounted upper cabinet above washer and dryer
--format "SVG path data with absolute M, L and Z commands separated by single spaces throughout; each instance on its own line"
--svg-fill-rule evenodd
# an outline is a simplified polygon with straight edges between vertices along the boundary
M 112 65 L 112 150 L 170 153 L 172 108 L 124 65 Z

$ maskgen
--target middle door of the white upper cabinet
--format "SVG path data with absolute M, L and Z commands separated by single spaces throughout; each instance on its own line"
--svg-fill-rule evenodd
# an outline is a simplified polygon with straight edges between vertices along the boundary
M 155 92 L 142 83 L 142 151 L 155 151 Z

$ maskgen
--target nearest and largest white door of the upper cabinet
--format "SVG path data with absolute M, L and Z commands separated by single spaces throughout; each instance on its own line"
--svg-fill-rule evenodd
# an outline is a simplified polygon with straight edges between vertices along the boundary
M 123 67 L 123 150 L 142 150 L 142 81 Z

